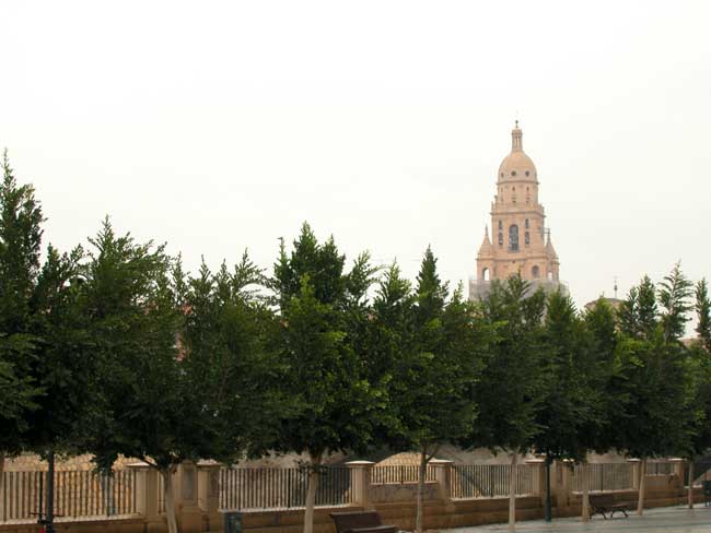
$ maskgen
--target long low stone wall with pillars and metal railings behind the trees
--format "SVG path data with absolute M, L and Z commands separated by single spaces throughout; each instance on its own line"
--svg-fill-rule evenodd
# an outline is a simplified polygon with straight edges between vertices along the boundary
M 385 470 L 391 469 L 391 470 Z M 509 465 L 459 465 L 433 461 L 427 473 L 424 518 L 428 529 L 505 522 Z M 684 463 L 655 463 L 645 476 L 645 507 L 686 502 Z M 639 463 L 595 465 L 588 476 L 591 494 L 634 507 Z M 243 531 L 300 533 L 306 473 L 299 469 L 229 469 L 211 462 L 186 463 L 175 474 L 176 510 L 183 533 L 222 531 L 225 512 L 242 514 Z M 37 533 L 36 513 L 42 475 L 5 473 L 0 497 L 0 533 Z M 67 473 L 56 483 L 56 520 L 66 533 L 165 533 L 164 494 L 158 473 L 143 463 L 127 466 L 115 479 Z M 516 472 L 516 518 L 543 518 L 546 486 L 543 462 L 520 465 Z M 582 477 L 576 467 L 555 463 L 550 473 L 553 516 L 581 513 Z M 315 533 L 334 533 L 330 512 L 375 509 L 385 523 L 413 529 L 417 469 L 393 470 L 366 461 L 324 471 L 317 493 Z M 702 490 L 696 489 L 697 501 Z

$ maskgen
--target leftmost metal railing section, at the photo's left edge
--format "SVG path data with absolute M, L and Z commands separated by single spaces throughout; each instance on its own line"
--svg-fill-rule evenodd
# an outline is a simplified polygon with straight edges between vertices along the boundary
M 1 522 L 36 520 L 46 512 L 47 472 L 4 472 Z M 55 472 L 54 507 L 58 518 L 135 514 L 137 477 L 130 470 L 112 475 L 93 471 Z

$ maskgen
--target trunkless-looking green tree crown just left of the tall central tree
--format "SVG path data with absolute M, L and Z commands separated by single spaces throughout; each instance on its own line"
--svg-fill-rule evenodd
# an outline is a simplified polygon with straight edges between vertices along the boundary
M 186 376 L 199 384 L 196 404 L 212 410 L 212 424 L 201 429 L 211 431 L 203 458 L 229 463 L 264 454 L 277 439 L 278 417 L 290 412 L 278 389 L 279 324 L 260 295 L 264 283 L 246 251 L 232 271 L 223 263 L 211 274 L 203 264 L 188 282 L 180 353 Z

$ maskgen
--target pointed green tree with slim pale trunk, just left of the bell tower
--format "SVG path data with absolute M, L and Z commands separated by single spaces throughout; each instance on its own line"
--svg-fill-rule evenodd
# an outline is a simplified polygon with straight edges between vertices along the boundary
M 428 463 L 443 443 L 464 442 L 477 417 L 474 398 L 488 335 L 462 288 L 448 296 L 436 259 L 427 249 L 417 286 L 399 279 L 394 266 L 381 285 L 376 322 L 388 333 L 394 365 L 389 405 L 394 410 L 392 443 L 418 452 L 419 476 L 415 529 L 424 526 L 423 496 Z

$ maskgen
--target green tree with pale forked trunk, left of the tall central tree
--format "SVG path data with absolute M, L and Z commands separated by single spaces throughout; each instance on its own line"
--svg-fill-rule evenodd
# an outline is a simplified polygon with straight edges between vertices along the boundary
M 110 471 L 124 454 L 163 476 L 168 530 L 175 533 L 171 474 L 199 448 L 190 390 L 176 346 L 183 320 L 163 247 L 118 236 L 108 220 L 90 239 L 82 284 L 86 331 L 98 366 L 101 395 L 88 424 L 86 447 Z M 184 394 L 188 394 L 185 396 Z M 187 453 L 187 458 L 193 458 Z

